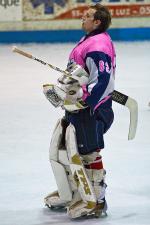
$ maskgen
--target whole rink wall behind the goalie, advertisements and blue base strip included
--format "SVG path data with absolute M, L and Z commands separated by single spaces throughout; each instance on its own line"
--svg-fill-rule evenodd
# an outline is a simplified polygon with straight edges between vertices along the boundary
M 113 40 L 150 40 L 150 0 L 0 0 L 0 43 L 74 42 L 88 4 L 109 7 Z

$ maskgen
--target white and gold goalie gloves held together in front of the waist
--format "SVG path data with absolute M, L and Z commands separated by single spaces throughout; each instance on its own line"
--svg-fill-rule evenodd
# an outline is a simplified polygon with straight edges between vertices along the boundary
M 60 77 L 58 85 L 43 85 L 43 92 L 53 106 L 61 106 L 67 111 L 75 111 L 87 106 L 81 99 L 83 95 L 81 85 L 88 82 L 87 73 L 81 66 L 76 65 L 76 67 L 75 70 L 71 68 L 70 76 L 64 74 Z

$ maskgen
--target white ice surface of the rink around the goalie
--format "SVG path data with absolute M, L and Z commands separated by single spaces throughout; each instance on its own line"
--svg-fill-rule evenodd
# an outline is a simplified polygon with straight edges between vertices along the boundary
M 64 111 L 45 98 L 42 85 L 59 73 L 0 45 L 0 225 L 150 224 L 150 42 L 116 42 L 116 87 L 139 106 L 136 138 L 128 141 L 129 112 L 113 103 L 115 121 L 102 151 L 107 170 L 106 218 L 70 220 L 45 208 L 55 190 L 49 142 Z M 65 69 L 74 44 L 18 45 Z

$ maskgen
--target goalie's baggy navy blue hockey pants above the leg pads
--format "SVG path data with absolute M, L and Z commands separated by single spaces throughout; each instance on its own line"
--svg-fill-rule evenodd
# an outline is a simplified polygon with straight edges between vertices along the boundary
M 111 107 L 99 108 L 95 114 L 86 108 L 77 113 L 66 112 L 65 119 L 75 127 L 79 153 L 86 155 L 104 148 L 103 136 L 113 122 L 114 113 Z

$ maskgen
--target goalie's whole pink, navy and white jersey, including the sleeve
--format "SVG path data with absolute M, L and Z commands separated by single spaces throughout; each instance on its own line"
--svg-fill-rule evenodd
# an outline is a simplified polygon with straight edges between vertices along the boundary
M 82 38 L 69 56 L 72 62 L 89 73 L 89 82 L 82 87 L 83 100 L 96 110 L 114 90 L 115 50 L 110 36 L 105 32 Z

